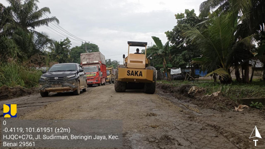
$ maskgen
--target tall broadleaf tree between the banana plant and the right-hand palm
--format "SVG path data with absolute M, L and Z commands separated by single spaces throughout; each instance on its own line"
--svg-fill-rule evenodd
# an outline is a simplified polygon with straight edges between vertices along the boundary
M 177 25 L 174 26 L 172 31 L 165 32 L 168 40 L 170 43 L 172 43 L 170 50 L 172 65 L 178 68 L 185 68 L 186 66 L 190 65 L 192 76 L 194 76 L 195 69 L 190 62 L 191 58 L 199 56 L 199 50 L 197 45 L 193 44 L 191 39 L 184 37 L 182 33 L 184 30 L 187 30 L 190 27 L 203 30 L 206 28 L 206 23 L 204 23 L 205 18 L 196 16 L 194 9 L 191 11 L 185 9 L 184 13 L 175 14 L 175 18 L 177 19 Z

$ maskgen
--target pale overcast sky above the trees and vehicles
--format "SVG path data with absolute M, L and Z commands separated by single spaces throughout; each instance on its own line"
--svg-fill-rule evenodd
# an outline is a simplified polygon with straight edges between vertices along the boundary
M 194 9 L 198 15 L 199 6 L 203 1 L 39 0 L 38 6 L 49 7 L 51 14 L 47 16 L 56 16 L 60 21 L 59 25 L 72 35 L 97 44 L 106 59 L 122 62 L 122 53 L 128 50 L 127 41 L 148 42 L 150 46 L 151 42 L 154 43 L 151 36 L 156 36 L 165 43 L 167 41 L 165 31 L 171 31 L 176 25 L 174 15 L 184 13 L 185 9 Z M 0 0 L 0 3 L 8 5 L 5 0 Z M 50 27 L 62 32 L 52 25 Z M 66 38 L 47 28 L 40 27 L 36 30 L 47 32 L 50 38 L 55 40 Z M 70 40 L 72 47 L 81 45 L 80 41 Z M 131 47 L 131 53 L 134 53 L 135 49 L 136 47 Z

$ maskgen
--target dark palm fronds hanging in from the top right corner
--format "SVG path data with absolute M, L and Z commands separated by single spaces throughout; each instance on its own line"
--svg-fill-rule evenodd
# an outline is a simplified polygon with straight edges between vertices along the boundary
M 238 15 L 242 16 L 244 27 L 254 33 L 264 32 L 265 0 L 206 0 L 200 5 L 202 16 L 207 16 L 214 9 L 219 14 L 232 11 L 235 19 Z

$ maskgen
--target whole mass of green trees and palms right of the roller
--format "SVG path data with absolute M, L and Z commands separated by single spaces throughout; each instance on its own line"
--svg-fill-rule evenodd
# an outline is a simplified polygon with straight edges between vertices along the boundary
M 251 82 L 254 71 L 249 79 L 249 67 L 257 63 L 265 71 L 264 0 L 206 0 L 200 11 L 199 16 L 187 9 L 175 14 L 177 25 L 165 32 L 172 45 L 166 58 L 160 57 L 163 64 L 190 66 L 192 75 L 197 67 L 215 80 L 219 75 L 223 83 L 231 83 L 232 71 L 237 82 Z

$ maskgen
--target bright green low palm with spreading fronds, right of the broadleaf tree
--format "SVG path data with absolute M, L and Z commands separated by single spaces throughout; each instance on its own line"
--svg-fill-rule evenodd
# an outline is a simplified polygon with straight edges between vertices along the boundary
M 253 36 L 238 38 L 235 33 L 239 25 L 240 21 L 234 23 L 233 13 L 227 12 L 211 18 L 208 28 L 202 32 L 194 27 L 184 31 L 183 35 L 192 39 L 201 50 L 202 57 L 194 58 L 193 63 L 201 64 L 204 69 L 211 71 L 206 77 L 216 73 L 221 76 L 222 82 L 231 83 L 230 67 L 236 54 L 239 51 L 251 54 L 254 49 Z M 240 56 L 246 57 L 243 54 Z

